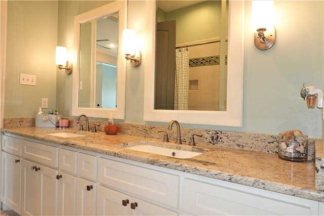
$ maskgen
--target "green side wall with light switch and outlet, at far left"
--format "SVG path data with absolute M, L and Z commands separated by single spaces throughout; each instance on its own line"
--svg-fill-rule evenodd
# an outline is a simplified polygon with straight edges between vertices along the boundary
M 57 17 L 56 1 L 8 1 L 5 117 L 34 116 L 42 98 L 55 108 Z M 19 84 L 20 73 L 36 86 Z

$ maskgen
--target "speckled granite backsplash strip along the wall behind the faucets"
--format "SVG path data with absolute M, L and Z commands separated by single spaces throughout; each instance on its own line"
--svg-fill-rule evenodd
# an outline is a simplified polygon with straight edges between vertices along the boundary
M 70 127 L 77 128 L 75 118 L 69 119 Z M 84 120 L 83 120 L 84 121 Z M 97 131 L 104 132 L 104 126 L 108 124 L 107 121 L 89 120 L 90 129 L 95 123 L 99 123 Z M 171 131 L 167 126 L 149 125 L 149 124 L 135 124 L 116 122 L 121 127 L 120 134 L 134 135 L 144 138 L 163 139 L 164 133 L 158 131 L 166 131 L 169 135 L 170 142 L 173 142 L 177 136 L 175 126 Z M 4 127 L 34 127 L 35 118 L 5 118 Z M 181 138 L 183 143 L 188 143 L 192 134 L 201 134 L 203 137 L 195 137 L 195 143 L 205 145 L 215 145 L 219 147 L 235 148 L 242 150 L 266 152 L 271 154 L 278 153 L 277 135 L 261 135 L 248 134 L 237 132 L 224 132 L 210 129 L 193 129 L 181 128 Z M 316 145 L 315 145 L 316 144 Z M 316 147 L 316 148 L 315 148 Z M 316 152 L 316 155 L 315 155 Z M 316 158 L 315 158 L 316 157 Z M 308 162 L 315 162 L 315 188 L 316 190 L 324 191 L 324 150 L 321 140 L 310 139 L 308 142 Z

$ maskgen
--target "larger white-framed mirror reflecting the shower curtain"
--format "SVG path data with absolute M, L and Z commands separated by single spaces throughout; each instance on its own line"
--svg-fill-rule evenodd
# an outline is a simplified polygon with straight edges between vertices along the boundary
M 166 12 L 166 10 L 169 9 L 162 9 L 163 6 L 162 8 L 158 8 L 158 2 L 159 1 L 157 1 L 157 4 L 155 1 L 149 2 L 147 7 L 147 26 L 150 28 L 148 29 L 148 36 L 150 37 L 148 38 L 148 41 L 153 41 L 147 43 L 147 49 L 152 50 L 153 55 L 149 55 L 149 58 L 151 59 L 146 60 L 146 63 L 148 64 L 145 65 L 144 120 L 169 122 L 172 119 L 177 119 L 181 123 L 241 126 L 244 71 L 244 1 L 168 1 L 169 7 L 173 2 L 180 4 L 184 2 L 195 2 L 194 5 L 188 5 L 181 9 L 181 12 L 176 13 L 171 13 L 172 11 Z M 214 7 L 210 5 L 215 4 L 215 2 L 220 3 L 221 8 L 219 6 Z M 220 13 L 220 15 L 217 16 L 223 17 L 216 23 L 212 20 L 209 21 L 208 24 L 210 27 L 208 30 L 214 29 L 212 34 L 208 35 L 209 32 L 206 32 L 204 29 L 195 29 L 199 23 L 205 22 L 205 20 L 200 19 L 203 16 L 198 16 L 198 12 L 194 11 L 195 6 L 198 6 L 200 10 L 204 7 L 206 9 L 206 6 L 209 9 L 213 7 L 215 9 L 220 8 L 217 9 L 218 11 L 211 12 L 213 14 Z M 159 26 L 160 21 L 164 21 L 163 19 L 165 19 L 163 17 L 164 14 L 161 13 L 161 15 L 159 13 L 161 10 L 163 13 L 167 14 L 165 15 L 167 21 L 175 20 L 176 22 L 176 42 L 170 42 L 168 39 L 168 34 L 170 34 L 171 30 L 166 30 L 165 32 L 167 33 L 159 34 L 159 31 L 161 31 L 160 29 L 164 31 L 164 27 Z M 177 9 L 177 11 L 180 10 Z M 224 14 L 227 12 L 228 22 L 227 19 L 224 18 Z M 205 13 L 208 14 L 206 10 Z M 207 17 L 206 14 L 204 17 Z M 188 18 L 191 15 L 193 17 Z M 183 17 L 186 17 L 187 20 L 191 19 L 192 22 L 186 21 L 186 27 L 179 27 L 182 22 L 181 19 L 184 19 Z M 212 19 L 217 19 L 217 17 Z M 224 24 L 228 24 L 228 26 L 222 27 L 221 31 L 218 31 L 214 28 L 217 23 L 220 23 L 220 26 L 224 26 Z M 202 26 L 203 24 L 200 25 Z M 180 28 L 184 29 L 178 32 L 178 29 Z M 226 29 L 228 29 L 228 31 L 226 31 Z M 188 33 L 190 30 L 205 32 L 204 34 L 208 35 L 208 37 L 203 38 L 198 35 L 194 38 L 191 35 L 193 33 Z M 162 42 L 159 44 L 160 38 L 168 40 L 168 42 Z M 186 41 L 188 38 L 189 41 Z M 168 52 L 171 51 L 169 54 L 161 52 L 161 50 L 167 50 L 166 44 L 172 44 L 172 47 L 168 49 Z M 177 54 L 177 51 L 179 53 L 177 47 L 184 49 L 180 50 L 181 53 L 189 50 L 189 54 L 187 55 L 189 57 L 186 59 L 183 59 L 183 57 L 176 59 L 175 54 Z M 208 50 L 215 50 L 216 48 L 214 47 L 217 47 L 217 53 L 208 53 Z M 205 53 L 201 53 L 200 51 L 204 51 Z M 190 53 L 193 54 L 193 57 L 190 57 Z M 175 59 L 174 63 L 171 63 L 170 65 L 169 63 L 161 63 L 164 61 L 164 56 L 172 56 L 172 58 Z M 204 63 L 203 60 L 205 61 L 207 58 L 209 58 L 208 61 L 212 62 L 217 58 L 214 62 L 217 62 L 218 65 L 201 66 L 201 64 Z M 177 69 L 174 69 L 179 67 L 175 62 L 179 62 L 181 67 L 183 67 L 183 65 L 185 66 L 185 68 L 180 69 L 181 71 L 188 71 L 186 77 L 182 80 L 185 84 L 182 85 L 181 88 L 177 87 L 177 85 L 181 85 L 181 83 L 179 83 L 179 77 L 183 77 L 181 77 L 181 74 L 180 76 L 177 74 Z M 199 64 L 198 67 L 191 69 L 190 64 L 196 63 Z M 168 67 L 171 68 L 171 72 L 167 72 Z M 216 67 L 218 68 L 217 70 L 219 70 L 218 73 L 215 71 Z M 197 72 L 197 68 L 202 69 Z M 158 69 L 161 71 L 159 72 Z M 190 71 L 193 71 L 192 73 L 194 75 L 190 74 Z M 214 92 L 211 94 L 208 93 L 209 95 L 199 95 L 201 92 L 206 93 L 208 80 L 206 81 L 201 79 L 201 77 L 203 77 L 202 74 L 206 71 L 209 71 L 209 76 L 215 77 L 215 74 L 217 74 L 218 81 L 212 81 L 212 83 L 215 83 L 214 87 L 217 86 L 217 90 L 214 88 Z M 166 76 L 165 74 L 168 73 L 171 75 Z M 163 82 L 165 79 L 171 80 L 171 84 L 169 81 Z M 172 83 L 172 81 L 174 83 Z M 201 91 L 199 91 L 199 88 Z M 180 90 L 184 91 L 181 94 L 185 96 L 179 96 L 181 94 L 179 94 L 179 92 L 177 93 L 177 91 Z M 171 96 L 168 96 L 168 92 L 170 91 Z M 193 94 L 193 97 L 191 95 L 190 98 L 190 94 Z M 207 100 L 203 100 L 204 98 L 207 98 Z M 164 100 L 169 101 L 165 103 Z

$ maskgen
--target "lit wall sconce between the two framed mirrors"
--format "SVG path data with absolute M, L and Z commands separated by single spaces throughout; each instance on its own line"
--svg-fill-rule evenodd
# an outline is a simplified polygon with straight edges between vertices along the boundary
M 141 64 L 141 51 L 135 49 L 136 32 L 133 29 L 123 30 L 123 45 L 121 52 L 125 55 L 127 60 L 131 60 L 133 67 L 138 67 Z

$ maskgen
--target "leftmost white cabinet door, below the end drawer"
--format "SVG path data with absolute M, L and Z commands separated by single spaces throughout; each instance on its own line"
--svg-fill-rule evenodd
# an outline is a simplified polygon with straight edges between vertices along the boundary
M 20 214 L 20 161 L 21 158 L 2 152 L 1 201 Z

